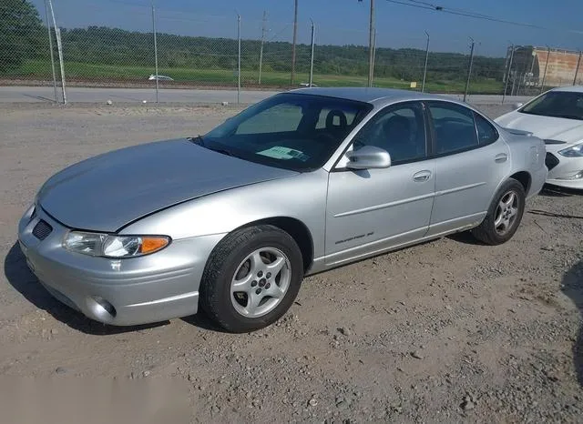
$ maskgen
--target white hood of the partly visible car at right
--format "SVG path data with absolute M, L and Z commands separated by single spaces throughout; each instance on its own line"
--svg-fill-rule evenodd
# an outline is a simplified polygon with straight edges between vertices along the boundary
M 547 140 L 572 144 L 583 139 L 583 121 L 575 119 L 528 115 L 514 111 L 496 118 L 496 123 L 505 128 L 529 131 Z

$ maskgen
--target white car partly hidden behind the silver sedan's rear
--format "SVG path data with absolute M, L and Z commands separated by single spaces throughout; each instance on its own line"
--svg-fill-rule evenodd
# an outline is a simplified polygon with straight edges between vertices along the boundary
M 496 123 L 545 140 L 547 184 L 583 189 L 583 86 L 549 90 Z

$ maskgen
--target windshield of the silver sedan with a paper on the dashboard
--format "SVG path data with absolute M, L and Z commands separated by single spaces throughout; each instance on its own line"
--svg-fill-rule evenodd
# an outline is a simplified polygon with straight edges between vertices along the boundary
M 195 141 L 251 162 L 309 171 L 322 167 L 372 108 L 342 98 L 285 93 L 245 109 Z

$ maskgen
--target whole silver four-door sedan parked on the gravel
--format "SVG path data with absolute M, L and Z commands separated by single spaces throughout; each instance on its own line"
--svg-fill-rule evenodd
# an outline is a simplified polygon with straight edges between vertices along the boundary
M 246 332 L 281 318 L 304 276 L 458 231 L 506 242 L 546 178 L 541 139 L 449 98 L 304 88 L 66 168 L 18 234 L 41 284 L 89 318 L 202 308 Z

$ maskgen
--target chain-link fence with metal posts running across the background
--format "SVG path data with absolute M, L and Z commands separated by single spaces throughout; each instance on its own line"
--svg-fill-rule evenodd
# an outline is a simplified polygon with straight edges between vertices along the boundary
M 158 100 L 160 88 L 371 84 L 365 29 L 300 21 L 294 49 L 294 23 L 271 19 L 268 11 L 210 16 L 120 2 L 118 15 L 131 20 L 119 25 L 95 0 L 79 11 L 94 25 L 59 29 L 58 10 L 45 4 L 42 19 L 26 1 L 0 5 L 0 85 L 58 86 L 55 98 L 63 101 L 66 86 L 148 87 Z M 583 80 L 578 52 L 445 34 L 390 39 L 382 27 L 373 39 L 373 86 L 530 96 Z

